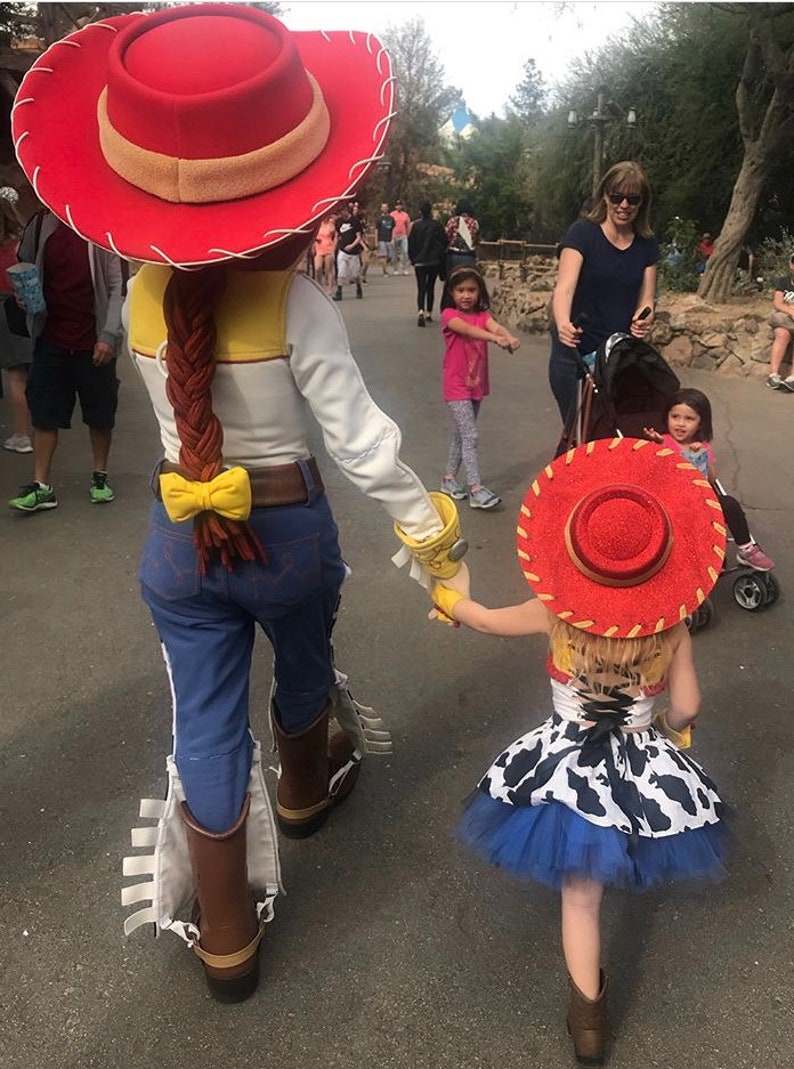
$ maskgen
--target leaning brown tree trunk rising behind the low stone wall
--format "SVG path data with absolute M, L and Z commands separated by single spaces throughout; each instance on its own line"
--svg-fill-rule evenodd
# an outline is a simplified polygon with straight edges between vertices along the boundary
M 714 252 L 706 261 L 698 296 L 714 305 L 726 304 L 731 295 L 742 242 L 752 222 L 764 185 L 764 155 L 759 154 L 757 145 L 745 152 L 728 215 L 714 243 Z

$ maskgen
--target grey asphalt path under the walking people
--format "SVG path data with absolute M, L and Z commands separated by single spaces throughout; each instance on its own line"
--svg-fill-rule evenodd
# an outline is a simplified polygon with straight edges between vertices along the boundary
M 419 329 L 414 282 L 373 273 L 341 311 L 362 373 L 437 485 L 447 450 L 438 324 Z M 481 416 L 495 512 L 464 505 L 474 591 L 526 594 L 514 526 L 557 434 L 546 343 L 494 350 Z M 549 710 L 540 639 L 431 623 L 390 563 L 390 523 L 317 453 L 346 559 L 340 667 L 394 735 L 328 824 L 282 843 L 287 895 L 263 945 L 260 991 L 214 1003 L 168 933 L 122 933 L 121 858 L 138 799 L 161 795 L 170 698 L 136 570 L 154 418 L 127 361 L 111 456 L 116 499 L 93 506 L 83 429 L 62 435 L 59 508 L 0 515 L 0 1067 L 2 1069 L 480 1069 L 573 1065 L 556 896 L 486 869 L 454 838 L 493 756 Z M 715 408 L 723 482 L 776 558 L 782 595 L 748 613 L 731 580 L 696 636 L 704 693 L 695 756 L 736 812 L 715 888 L 605 903 L 613 1069 L 777 1069 L 794 1051 L 791 591 L 794 397 L 685 372 Z M 7 399 L 0 422 L 9 433 Z M 30 459 L 0 455 L 6 499 Z M 258 642 L 252 721 L 266 739 L 269 655 Z M 269 762 L 268 762 L 269 763 Z M 275 776 L 268 777 L 275 786 Z

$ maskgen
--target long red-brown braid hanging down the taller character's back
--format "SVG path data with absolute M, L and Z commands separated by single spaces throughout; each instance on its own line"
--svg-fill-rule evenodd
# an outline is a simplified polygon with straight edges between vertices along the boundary
M 162 311 L 168 330 L 166 394 L 180 437 L 180 467 L 187 479 L 209 482 L 223 466 L 223 429 L 213 412 L 217 328 L 215 312 L 229 283 L 225 265 L 175 270 Z M 247 523 L 205 510 L 193 520 L 193 543 L 202 574 L 214 557 L 228 571 L 235 559 L 267 561 Z

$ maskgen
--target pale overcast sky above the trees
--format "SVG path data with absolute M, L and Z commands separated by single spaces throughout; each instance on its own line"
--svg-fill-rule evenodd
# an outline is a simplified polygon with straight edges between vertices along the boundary
M 469 110 L 502 114 L 533 59 L 547 84 L 565 78 L 571 61 L 619 40 L 655 3 L 582 0 L 282 0 L 282 19 L 294 30 L 367 30 L 420 17 L 438 50 L 447 82 L 463 90 Z

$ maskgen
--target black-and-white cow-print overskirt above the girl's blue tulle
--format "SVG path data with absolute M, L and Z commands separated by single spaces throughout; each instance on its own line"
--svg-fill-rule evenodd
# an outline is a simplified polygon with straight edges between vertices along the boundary
M 597 721 L 592 698 L 588 718 Z M 554 712 L 497 757 L 480 790 L 515 806 L 561 802 L 593 824 L 651 838 L 720 820 L 714 784 L 655 728 L 626 732 L 613 725 L 592 734 Z

